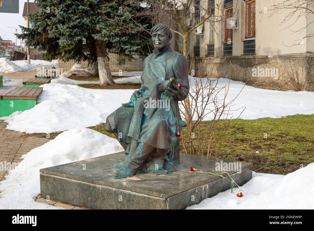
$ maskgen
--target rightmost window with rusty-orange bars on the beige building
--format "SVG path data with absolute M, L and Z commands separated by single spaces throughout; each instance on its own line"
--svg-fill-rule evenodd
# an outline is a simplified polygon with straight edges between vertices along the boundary
M 245 38 L 255 37 L 255 0 L 245 3 Z

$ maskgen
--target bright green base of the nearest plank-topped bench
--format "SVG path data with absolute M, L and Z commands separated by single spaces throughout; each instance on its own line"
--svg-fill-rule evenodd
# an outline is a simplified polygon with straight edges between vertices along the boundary
M 0 99 L 0 117 L 11 115 L 16 111 L 29 110 L 36 104 L 35 99 Z

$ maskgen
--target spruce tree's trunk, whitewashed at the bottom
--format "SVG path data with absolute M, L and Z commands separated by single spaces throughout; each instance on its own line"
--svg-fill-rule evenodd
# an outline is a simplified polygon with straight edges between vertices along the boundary
M 109 67 L 106 43 L 102 40 L 95 40 L 95 42 L 100 86 L 115 85 Z

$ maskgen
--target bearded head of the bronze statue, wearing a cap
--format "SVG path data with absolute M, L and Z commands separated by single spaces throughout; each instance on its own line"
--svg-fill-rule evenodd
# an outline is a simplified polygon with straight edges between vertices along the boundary
M 154 25 L 150 33 L 152 34 L 154 48 L 159 50 L 167 46 L 172 38 L 170 28 L 162 23 Z

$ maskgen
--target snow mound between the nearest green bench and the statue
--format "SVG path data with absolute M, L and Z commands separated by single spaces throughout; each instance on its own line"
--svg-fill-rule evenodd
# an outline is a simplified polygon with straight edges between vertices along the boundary
M 106 117 L 127 103 L 130 90 L 87 89 L 75 85 L 44 84 L 38 104 L 30 109 L 2 117 L 10 130 L 26 133 L 66 131 L 106 122 Z M 34 115 L 41 115 L 36 116 Z M 42 116 L 44 115 L 44 116 Z

